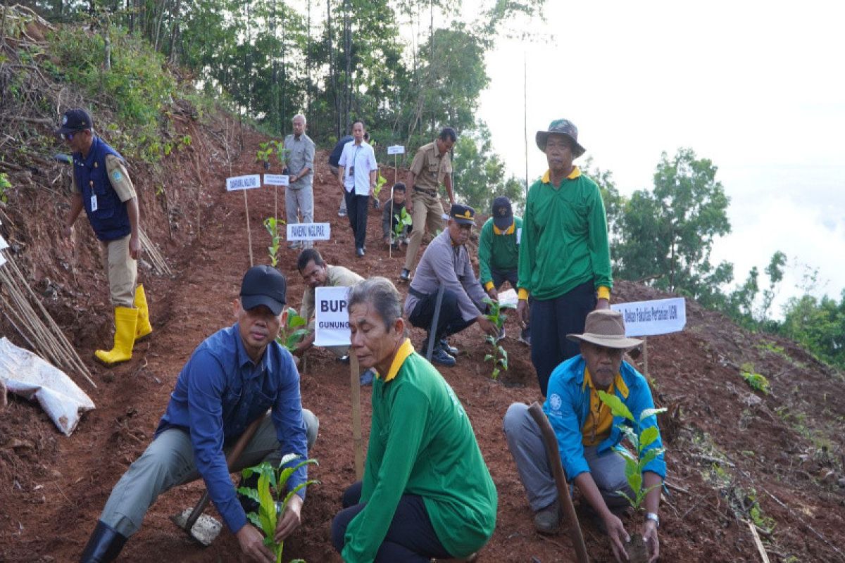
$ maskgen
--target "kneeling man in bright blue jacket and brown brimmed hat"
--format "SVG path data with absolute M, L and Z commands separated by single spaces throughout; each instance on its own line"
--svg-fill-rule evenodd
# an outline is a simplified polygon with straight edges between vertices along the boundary
M 624 543 L 629 535 L 614 512 L 622 513 L 628 506 L 619 491 L 633 497 L 625 479 L 624 457 L 618 452 L 624 437 L 618 425 L 628 421 L 614 418 L 608 406 L 599 400 L 597 391 L 621 399 L 635 420 L 640 420 L 646 409 L 654 408 L 646 378 L 622 360 L 624 351 L 638 346 L 641 340 L 625 338 L 622 314 L 609 309 L 592 311 L 586 317 L 584 333 L 568 334 L 567 338 L 581 342 L 581 354 L 564 361 L 552 372 L 548 398 L 542 409 L 558 438 L 567 479 L 584 495 L 588 511 L 595 513 L 599 528 L 607 531 L 613 555 L 617 560 L 626 560 Z M 640 432 L 651 426 L 657 428 L 654 414 L 642 421 Z M 504 415 L 504 433 L 535 512 L 535 528 L 540 533 L 555 533 L 560 519 L 558 492 L 540 429 L 525 404 L 510 405 Z M 655 448 L 662 448 L 659 429 L 657 439 L 646 451 Z M 644 488 L 651 488 L 646 495 L 646 521 L 642 526 L 649 561 L 657 560 L 659 555 L 657 510 L 665 477 L 666 463 L 661 453 L 646 464 L 642 474 Z

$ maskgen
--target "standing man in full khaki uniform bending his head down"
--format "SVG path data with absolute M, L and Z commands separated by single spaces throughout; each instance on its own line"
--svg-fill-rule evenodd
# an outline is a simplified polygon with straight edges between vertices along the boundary
M 411 279 L 411 271 L 417 261 L 417 252 L 423 242 L 423 233 L 435 233 L 444 228 L 443 204 L 440 203 L 440 182 L 446 187 L 450 205 L 455 204 L 455 193 L 452 192 L 452 161 L 449 151 L 458 140 L 458 135 L 452 127 L 444 127 L 433 143 L 423 144 L 414 155 L 411 170 L 408 171 L 408 203 L 407 210 L 413 220 L 411 241 L 405 254 L 405 268 L 399 275 L 399 280 L 406 282 Z

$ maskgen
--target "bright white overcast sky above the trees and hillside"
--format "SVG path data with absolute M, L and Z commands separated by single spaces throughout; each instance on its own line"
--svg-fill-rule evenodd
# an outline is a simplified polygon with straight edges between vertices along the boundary
M 790 260 L 778 302 L 819 268 L 817 294 L 845 287 L 845 3 L 549 0 L 533 42 L 499 41 L 480 115 L 494 149 L 525 176 L 545 171 L 534 133 L 570 119 L 619 191 L 650 188 L 662 151 L 718 166 L 733 233 L 714 259 L 735 281 Z M 763 280 L 765 283 L 766 280 Z

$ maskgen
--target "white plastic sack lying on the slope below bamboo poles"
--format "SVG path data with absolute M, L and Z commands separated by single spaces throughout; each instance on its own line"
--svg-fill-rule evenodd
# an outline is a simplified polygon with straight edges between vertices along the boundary
M 9 392 L 36 399 L 65 436 L 71 435 L 85 411 L 95 409 L 94 402 L 63 371 L 5 337 L 0 338 L 0 380 Z

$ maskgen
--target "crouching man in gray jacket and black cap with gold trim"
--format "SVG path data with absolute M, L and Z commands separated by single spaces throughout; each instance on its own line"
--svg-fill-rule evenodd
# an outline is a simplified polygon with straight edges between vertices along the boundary
M 452 204 L 446 230 L 434 237 L 423 252 L 417 273 L 405 300 L 405 314 L 411 324 L 425 328 L 428 338 L 434 338 L 431 360 L 439 365 L 455 365 L 458 350 L 446 342 L 450 334 L 460 333 L 477 322 L 485 333 L 497 336 L 493 322 L 484 317 L 486 294 L 472 271 L 466 241 L 475 225 L 475 209 Z M 443 301 L 437 326 L 432 327 L 434 308 L 440 286 L 444 286 Z

